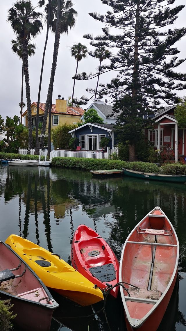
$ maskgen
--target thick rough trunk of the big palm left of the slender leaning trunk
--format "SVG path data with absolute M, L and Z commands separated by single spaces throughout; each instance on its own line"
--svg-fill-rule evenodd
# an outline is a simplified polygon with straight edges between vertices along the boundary
M 29 84 L 29 73 L 28 73 L 28 42 L 26 39 L 23 40 L 23 68 L 24 68 L 24 79 L 26 88 L 26 103 L 27 103 L 27 116 L 28 116 L 28 154 L 30 149 L 33 148 L 32 138 L 32 114 L 31 114 L 31 101 L 30 101 L 30 84 Z

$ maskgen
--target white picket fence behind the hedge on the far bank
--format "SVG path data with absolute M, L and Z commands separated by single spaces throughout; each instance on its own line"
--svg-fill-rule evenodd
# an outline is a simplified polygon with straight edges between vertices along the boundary
M 34 155 L 35 148 L 30 150 L 30 154 Z M 107 147 L 107 152 L 96 151 L 70 151 L 70 150 L 52 150 L 50 152 L 50 160 L 54 157 L 63 158 L 86 158 L 86 159 L 110 159 L 113 153 L 117 153 L 117 147 Z M 26 155 L 27 148 L 19 148 L 19 154 Z M 47 150 L 40 149 L 39 155 L 47 155 Z

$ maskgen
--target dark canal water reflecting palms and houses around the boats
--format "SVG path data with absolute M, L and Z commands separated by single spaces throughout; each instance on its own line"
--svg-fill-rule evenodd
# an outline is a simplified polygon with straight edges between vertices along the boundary
M 170 219 L 180 244 L 178 281 L 158 331 L 182 331 L 186 329 L 185 184 L 94 178 L 80 170 L 0 164 L 0 240 L 18 234 L 68 263 L 79 224 L 96 230 L 120 260 L 126 237 L 156 206 Z M 104 314 L 98 312 L 102 304 L 79 307 L 52 294 L 60 307 L 54 312 L 51 331 L 125 330 L 120 297 L 107 302 Z

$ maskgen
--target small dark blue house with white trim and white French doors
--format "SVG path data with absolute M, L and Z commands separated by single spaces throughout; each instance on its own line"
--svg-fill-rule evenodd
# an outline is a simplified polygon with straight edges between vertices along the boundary
M 100 151 L 102 150 L 101 139 L 109 138 L 108 147 L 114 147 L 117 144 L 116 129 L 114 124 L 106 123 L 86 123 L 71 131 L 72 138 L 79 139 L 81 150 Z

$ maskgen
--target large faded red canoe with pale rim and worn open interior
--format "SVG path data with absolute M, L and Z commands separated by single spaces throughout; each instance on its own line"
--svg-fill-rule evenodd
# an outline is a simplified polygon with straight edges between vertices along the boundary
M 127 330 L 156 331 L 178 273 L 179 243 L 169 219 L 154 208 L 123 246 L 119 281 Z

